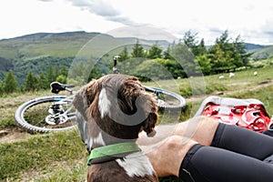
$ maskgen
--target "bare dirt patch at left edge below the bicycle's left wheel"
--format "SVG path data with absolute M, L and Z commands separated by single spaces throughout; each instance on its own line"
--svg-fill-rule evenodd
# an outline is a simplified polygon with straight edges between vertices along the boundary
M 0 143 L 9 143 L 30 137 L 31 134 L 16 129 L 0 130 Z

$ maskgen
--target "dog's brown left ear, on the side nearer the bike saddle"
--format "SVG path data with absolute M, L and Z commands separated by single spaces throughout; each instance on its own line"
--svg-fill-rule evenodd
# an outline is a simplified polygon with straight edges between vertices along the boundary
M 72 105 L 75 106 L 76 110 L 85 118 L 87 121 L 86 110 L 93 102 L 98 83 L 96 79 L 93 79 L 86 86 L 83 86 L 74 96 Z

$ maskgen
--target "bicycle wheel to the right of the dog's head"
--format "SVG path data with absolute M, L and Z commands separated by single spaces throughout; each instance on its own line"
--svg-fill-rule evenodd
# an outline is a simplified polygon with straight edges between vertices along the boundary
M 157 98 L 157 106 L 164 109 L 181 109 L 187 106 L 186 99 L 174 92 L 157 87 L 144 86 L 146 91 Z

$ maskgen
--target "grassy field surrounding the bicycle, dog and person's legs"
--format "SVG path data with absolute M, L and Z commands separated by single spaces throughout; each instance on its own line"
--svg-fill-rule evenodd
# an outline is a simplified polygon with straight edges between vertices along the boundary
M 260 87 L 271 82 L 271 68 L 258 69 L 258 76 L 252 76 L 254 70 L 236 72 L 234 78 L 219 80 L 218 76 L 204 76 L 189 79 L 178 79 L 173 82 L 146 83 L 148 86 L 165 86 L 165 89 L 188 97 L 188 105 L 183 110 L 180 120 L 187 120 L 196 111 L 202 97 L 190 100 L 189 96 L 217 95 L 237 98 L 258 98 L 261 100 L 269 115 L 273 115 L 273 86 Z M 195 86 L 193 86 L 195 85 Z M 192 90 L 195 90 L 195 95 Z M 205 90 L 204 90 L 205 89 Z M 1 97 L 0 100 L 0 129 L 16 128 L 14 121 L 15 109 L 25 101 L 49 95 L 49 92 L 27 93 L 24 96 Z M 20 129 L 18 129 L 20 130 Z M 83 145 L 78 131 L 71 130 L 51 134 L 32 135 L 27 139 L 11 143 L 0 144 L 0 181 L 85 181 L 86 179 L 86 148 Z M 160 178 L 160 181 L 178 181 L 174 177 Z

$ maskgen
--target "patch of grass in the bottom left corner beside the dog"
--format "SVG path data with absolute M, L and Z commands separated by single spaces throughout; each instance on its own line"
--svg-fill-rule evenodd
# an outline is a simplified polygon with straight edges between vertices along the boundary
M 46 174 L 46 181 L 48 174 L 61 177 L 59 175 L 64 173 L 59 172 L 62 170 L 73 174 L 86 166 L 86 161 L 84 164 L 82 160 L 87 157 L 86 148 L 77 130 L 35 135 L 23 141 L 4 143 L 0 146 L 0 151 L 1 179 L 16 180 L 25 174 L 27 177 L 33 174 L 31 178 L 39 177 L 39 180 L 42 180 L 43 175 L 41 178 L 36 174 Z M 70 175 L 66 174 L 64 177 Z

